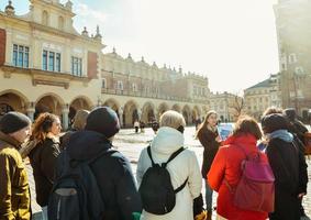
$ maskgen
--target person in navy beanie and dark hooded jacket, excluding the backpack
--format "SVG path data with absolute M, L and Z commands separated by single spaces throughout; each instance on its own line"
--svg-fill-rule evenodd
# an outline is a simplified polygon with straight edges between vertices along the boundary
M 85 131 L 71 134 L 66 151 L 73 160 L 88 161 L 111 151 L 111 141 L 119 130 L 116 113 L 108 107 L 97 108 L 88 116 Z M 90 167 L 104 204 L 103 219 L 132 220 L 134 212 L 142 211 L 131 164 L 120 152 L 102 154 Z

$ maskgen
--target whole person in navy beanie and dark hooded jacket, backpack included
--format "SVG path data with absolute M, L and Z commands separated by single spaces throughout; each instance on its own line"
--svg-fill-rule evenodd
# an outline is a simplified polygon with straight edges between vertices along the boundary
M 49 220 L 132 220 L 142 211 L 131 164 L 112 145 L 119 130 L 115 111 L 99 107 L 71 134 L 57 160 Z

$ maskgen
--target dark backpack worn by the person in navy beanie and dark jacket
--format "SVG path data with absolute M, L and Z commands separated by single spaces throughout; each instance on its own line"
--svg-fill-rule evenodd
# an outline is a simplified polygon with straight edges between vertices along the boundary
M 90 164 L 114 152 L 104 151 L 96 157 L 79 162 L 71 160 L 66 150 L 63 151 L 57 161 L 62 172 L 54 182 L 47 206 L 49 220 L 103 219 L 104 204 Z

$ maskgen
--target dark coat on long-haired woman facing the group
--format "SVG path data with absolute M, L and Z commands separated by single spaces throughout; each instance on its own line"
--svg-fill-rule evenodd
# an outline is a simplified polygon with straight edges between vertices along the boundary
M 207 179 L 208 172 L 211 168 L 213 160 L 218 153 L 220 143 L 215 141 L 215 138 L 219 135 L 218 131 L 213 132 L 208 128 L 203 127 L 198 131 L 198 139 L 202 146 L 203 151 L 203 163 L 202 163 L 202 177 Z

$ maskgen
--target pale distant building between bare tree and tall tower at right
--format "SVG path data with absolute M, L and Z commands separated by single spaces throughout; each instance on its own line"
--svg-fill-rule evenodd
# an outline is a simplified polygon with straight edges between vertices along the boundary
M 281 108 L 280 74 L 245 89 L 244 100 L 246 113 L 258 120 L 268 107 Z

